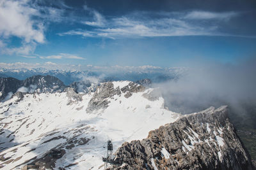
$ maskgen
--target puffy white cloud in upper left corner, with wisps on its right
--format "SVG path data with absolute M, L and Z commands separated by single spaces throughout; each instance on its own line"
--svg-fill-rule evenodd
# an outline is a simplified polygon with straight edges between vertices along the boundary
M 40 0 L 0 0 L 0 53 L 29 55 L 36 45 L 45 43 L 47 23 L 61 22 L 63 8 L 69 8 L 62 1 L 52 4 L 56 8 Z M 20 46 L 10 43 L 13 37 L 20 39 Z

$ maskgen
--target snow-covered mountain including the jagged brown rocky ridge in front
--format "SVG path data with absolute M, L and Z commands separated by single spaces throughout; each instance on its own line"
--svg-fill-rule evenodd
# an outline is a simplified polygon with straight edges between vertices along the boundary
M 212 155 L 214 163 L 210 162 L 216 167 L 229 153 L 242 161 L 238 161 L 241 167 L 251 163 L 225 108 L 182 116 L 164 108 L 157 89 L 132 81 L 100 83 L 95 90 L 80 93 L 71 87 L 16 92 L 0 103 L 0 122 L 1 169 L 27 164 L 48 169 L 104 169 L 102 157 L 109 139 L 116 159 L 124 163 L 117 169 L 171 168 L 175 161 L 179 162 L 175 167 L 193 169 L 187 163 L 195 153 L 199 158 Z M 200 146 L 204 152 L 198 153 Z M 164 164 L 159 163 L 162 160 Z M 198 165 L 205 163 L 199 160 Z M 133 167 L 131 162 L 137 163 Z

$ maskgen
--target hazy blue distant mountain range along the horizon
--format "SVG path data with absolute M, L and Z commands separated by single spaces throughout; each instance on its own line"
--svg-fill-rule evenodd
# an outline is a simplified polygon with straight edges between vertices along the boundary
M 59 78 L 65 85 L 70 85 L 74 81 L 90 81 L 91 83 L 104 82 L 104 81 L 138 81 L 145 78 L 150 79 L 153 83 L 159 83 L 167 80 L 173 80 L 179 78 L 180 75 L 184 74 L 186 69 L 182 67 L 166 68 L 166 69 L 138 69 L 136 71 L 131 70 L 106 70 L 100 69 L 99 71 L 68 71 L 68 70 L 50 70 L 45 68 L 19 68 L 19 69 L 8 69 L 0 68 L 0 77 L 7 78 L 13 77 L 18 80 L 25 80 L 28 77 L 35 75 L 42 76 L 55 76 Z

